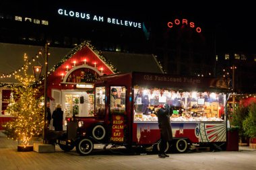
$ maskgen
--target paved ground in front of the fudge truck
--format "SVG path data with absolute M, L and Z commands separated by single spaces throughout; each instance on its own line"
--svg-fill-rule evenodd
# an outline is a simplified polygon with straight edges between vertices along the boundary
M 97 145 L 92 155 L 79 156 L 75 150 L 65 153 L 56 146 L 55 153 L 18 152 L 17 141 L 7 139 L 0 132 L 0 169 L 90 169 L 90 170 L 125 170 L 125 169 L 207 169 L 236 170 L 256 169 L 256 150 L 247 146 L 234 152 L 197 152 L 171 153 L 169 158 L 160 159 L 158 155 L 129 154 L 125 151 L 102 151 Z M 122 151 L 122 152 L 120 152 Z

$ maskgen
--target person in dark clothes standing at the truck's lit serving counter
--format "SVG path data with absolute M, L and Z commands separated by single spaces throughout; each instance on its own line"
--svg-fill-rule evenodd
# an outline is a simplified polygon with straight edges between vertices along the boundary
M 172 128 L 170 126 L 170 105 L 164 104 L 163 108 L 159 107 L 156 109 L 156 115 L 158 116 L 158 127 L 160 129 L 161 141 L 160 150 L 158 157 L 165 158 L 169 157 L 164 153 L 166 143 L 172 140 Z

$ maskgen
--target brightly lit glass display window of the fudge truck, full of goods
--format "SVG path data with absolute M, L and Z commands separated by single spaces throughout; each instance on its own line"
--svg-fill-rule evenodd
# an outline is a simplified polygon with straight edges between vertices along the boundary
M 134 88 L 134 120 L 157 121 L 155 108 L 164 103 L 172 107 L 171 121 L 224 121 L 223 93 Z

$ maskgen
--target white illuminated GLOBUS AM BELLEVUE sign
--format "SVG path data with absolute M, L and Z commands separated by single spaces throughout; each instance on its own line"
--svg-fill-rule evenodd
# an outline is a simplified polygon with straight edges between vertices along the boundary
M 80 19 L 92 20 L 95 22 L 106 22 L 108 24 L 115 24 L 119 26 L 127 26 L 133 28 L 141 28 L 142 24 L 139 22 L 131 22 L 128 20 L 117 19 L 114 17 L 103 17 L 99 15 L 90 15 L 90 13 L 78 12 L 78 11 L 69 11 L 66 9 L 58 9 L 59 15 L 64 15 L 68 17 L 76 17 Z

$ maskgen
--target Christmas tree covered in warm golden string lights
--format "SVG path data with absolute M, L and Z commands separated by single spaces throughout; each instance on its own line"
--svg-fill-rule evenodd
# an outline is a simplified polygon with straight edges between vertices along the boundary
M 7 112 L 13 116 L 13 120 L 4 125 L 7 137 L 20 140 L 24 147 L 29 145 L 33 136 L 42 134 L 44 127 L 44 112 L 40 107 L 41 99 L 38 99 L 39 89 L 32 87 L 36 79 L 27 74 L 29 65 L 28 57 L 24 54 L 22 74 L 15 75 L 21 85 L 11 88 L 12 95 L 7 107 Z

